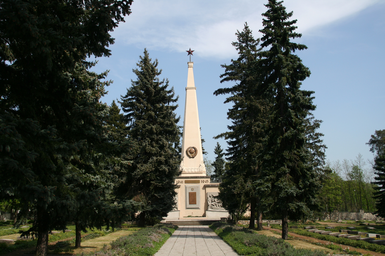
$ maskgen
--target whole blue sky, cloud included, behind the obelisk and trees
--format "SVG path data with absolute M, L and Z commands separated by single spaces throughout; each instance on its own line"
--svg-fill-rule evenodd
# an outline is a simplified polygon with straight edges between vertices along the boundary
M 262 27 L 266 1 L 149 1 L 136 0 L 132 14 L 112 33 L 112 56 L 98 58 L 93 71 L 110 70 L 114 83 L 102 101 L 126 94 L 144 48 L 159 61 L 161 78 L 168 78 L 179 95 L 177 114 L 183 120 L 187 83 L 186 50 L 194 51 L 199 121 L 207 157 L 214 159 L 213 136 L 226 131 L 230 121 L 224 96 L 213 92 L 220 84 L 221 64 L 237 58 L 231 42 L 234 33 L 248 22 L 255 37 Z M 384 0 L 292 0 L 285 1 L 298 19 L 299 40 L 309 47 L 298 55 L 311 70 L 303 89 L 315 91 L 314 112 L 323 121 L 331 161 L 354 159 L 359 153 L 372 159 L 365 145 L 375 130 L 385 129 L 385 1 Z M 224 140 L 218 140 L 226 147 Z

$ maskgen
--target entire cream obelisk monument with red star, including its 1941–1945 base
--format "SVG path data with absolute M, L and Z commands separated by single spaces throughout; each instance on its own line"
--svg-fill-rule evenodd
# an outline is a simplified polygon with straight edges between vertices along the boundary
M 198 102 L 192 71 L 191 48 L 187 51 L 190 61 L 187 62 L 186 105 L 184 107 L 181 174 L 175 177 L 177 205 L 170 211 L 166 219 L 189 219 L 199 216 L 219 220 L 227 217 L 228 211 L 222 208 L 222 202 L 213 199 L 219 192 L 219 182 L 211 182 L 206 175 L 203 163 L 201 129 L 199 126 Z

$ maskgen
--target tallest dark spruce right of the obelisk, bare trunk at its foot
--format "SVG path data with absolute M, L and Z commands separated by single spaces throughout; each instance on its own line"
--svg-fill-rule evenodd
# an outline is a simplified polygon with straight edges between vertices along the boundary
M 295 32 L 296 20 L 289 20 L 293 12 L 287 13 L 282 1 L 269 0 L 265 6 L 258 66 L 264 76 L 260 94 L 269 98 L 272 107 L 263 169 L 272 186 L 271 209 L 282 213 L 282 238 L 287 239 L 288 217 L 296 220 L 308 214 L 320 187 L 305 136 L 305 119 L 315 105 L 313 92 L 300 89 L 310 70 L 294 54 L 307 47 L 290 41 L 301 37 Z

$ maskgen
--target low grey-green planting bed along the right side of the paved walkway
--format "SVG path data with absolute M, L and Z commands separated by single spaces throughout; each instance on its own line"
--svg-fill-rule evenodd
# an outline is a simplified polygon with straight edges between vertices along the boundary
M 248 228 L 215 222 L 210 226 L 239 255 L 251 256 L 325 256 L 323 251 L 295 249 L 285 240 L 259 235 Z

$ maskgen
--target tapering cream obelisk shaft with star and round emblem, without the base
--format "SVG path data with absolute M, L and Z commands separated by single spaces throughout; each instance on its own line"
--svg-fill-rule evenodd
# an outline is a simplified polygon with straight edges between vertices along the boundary
M 192 54 L 192 51 L 187 51 Z M 206 176 L 206 167 L 203 163 L 201 130 L 199 126 L 198 102 L 191 61 L 187 62 L 186 104 L 184 106 L 184 122 L 182 137 L 182 163 L 180 170 L 184 176 Z

